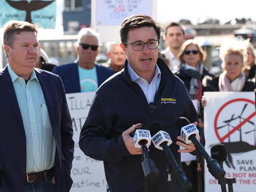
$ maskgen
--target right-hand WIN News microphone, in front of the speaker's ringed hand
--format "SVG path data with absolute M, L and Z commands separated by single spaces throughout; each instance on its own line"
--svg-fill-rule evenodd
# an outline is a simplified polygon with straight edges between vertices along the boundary
M 216 159 L 213 159 L 210 157 L 210 155 L 208 155 L 204 147 L 197 140 L 197 135 L 199 135 L 197 127 L 195 127 L 194 124 L 191 124 L 189 120 L 187 120 L 187 118 L 185 117 L 178 118 L 176 122 L 176 127 L 181 130 L 180 136 L 184 139 L 186 144 L 193 142 L 198 153 L 204 156 L 204 159 L 207 162 L 208 170 L 211 175 L 215 177 L 215 179 L 223 178 L 226 174 L 224 169 L 221 167 Z

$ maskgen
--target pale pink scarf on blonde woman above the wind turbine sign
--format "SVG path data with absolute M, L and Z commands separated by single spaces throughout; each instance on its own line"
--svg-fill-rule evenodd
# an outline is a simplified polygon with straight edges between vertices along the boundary
M 240 75 L 234 79 L 230 83 L 228 76 L 226 75 L 226 71 L 224 71 L 220 76 L 219 76 L 219 91 L 234 91 L 234 92 L 239 92 L 243 89 L 245 86 L 245 76 L 243 73 L 240 73 Z

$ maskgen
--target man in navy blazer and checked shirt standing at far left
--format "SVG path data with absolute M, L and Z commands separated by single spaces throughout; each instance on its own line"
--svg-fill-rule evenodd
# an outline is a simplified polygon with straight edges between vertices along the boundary
M 68 192 L 74 141 L 61 79 L 34 68 L 37 28 L 4 26 L 7 66 L 0 70 L 0 192 Z M 32 190 L 33 188 L 33 190 Z

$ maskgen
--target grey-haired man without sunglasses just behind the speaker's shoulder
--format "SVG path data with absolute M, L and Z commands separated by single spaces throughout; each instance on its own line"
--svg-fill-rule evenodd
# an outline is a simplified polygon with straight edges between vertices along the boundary
M 109 60 L 107 63 L 103 63 L 103 66 L 113 69 L 115 72 L 119 72 L 124 67 L 124 59 L 126 55 L 122 50 L 120 43 L 117 42 L 108 42 L 108 49 L 106 55 Z

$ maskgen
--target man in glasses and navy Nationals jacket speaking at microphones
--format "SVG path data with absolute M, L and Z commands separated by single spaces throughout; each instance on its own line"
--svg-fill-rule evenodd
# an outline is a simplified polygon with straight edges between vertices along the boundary
M 184 83 L 174 76 L 163 59 L 158 57 L 161 26 L 147 15 L 124 19 L 121 48 L 127 58 L 124 69 L 104 82 L 97 90 L 91 109 L 81 130 L 79 146 L 85 155 L 104 161 L 109 191 L 166 192 L 167 158 L 162 150 L 149 147 L 149 157 L 156 163 L 159 177 L 145 184 L 141 166 L 141 149 L 134 147 L 135 124 L 144 129 L 152 121 L 160 121 L 173 140 L 171 151 L 179 166 L 180 153 L 195 150 L 187 145 L 175 126 L 180 116 L 198 121 L 197 112 Z M 204 145 L 201 127 L 200 139 Z M 180 150 L 183 146 L 185 150 Z M 173 191 L 180 192 L 172 177 Z

